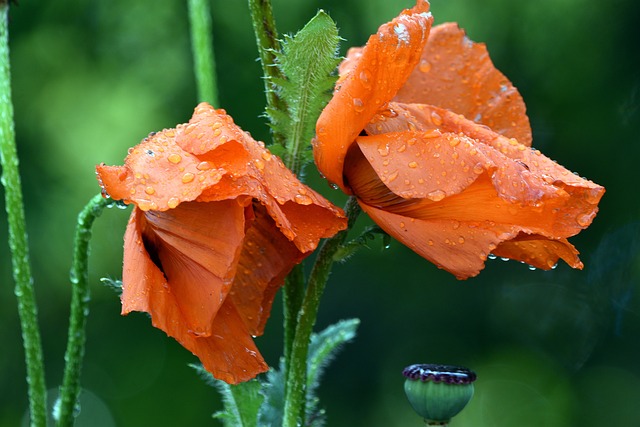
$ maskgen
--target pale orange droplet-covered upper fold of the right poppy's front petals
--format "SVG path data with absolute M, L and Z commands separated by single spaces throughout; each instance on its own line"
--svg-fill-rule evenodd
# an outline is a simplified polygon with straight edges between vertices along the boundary
M 456 189 L 464 188 L 465 181 L 471 182 L 471 171 L 480 174 L 484 169 L 491 176 L 500 197 L 505 200 L 538 205 L 545 203 L 545 200 L 563 198 L 568 194 L 578 215 L 581 215 L 580 222 L 588 225 L 595 216 L 604 188 L 568 171 L 540 151 L 441 108 L 397 103 L 391 103 L 390 108 L 393 111 L 391 116 L 378 114 L 366 130 L 368 133 L 384 133 L 383 135 L 390 135 L 390 139 L 397 139 L 380 145 L 389 147 L 388 158 L 399 157 L 395 162 L 399 170 L 398 176 L 394 183 L 388 184 L 397 194 L 403 197 L 423 197 L 429 191 L 437 190 L 433 187 L 444 185 L 446 188 L 442 188 L 442 191 L 449 195 Z M 440 133 L 451 146 L 438 139 Z M 385 138 L 383 135 L 377 135 L 376 138 Z M 420 135 L 428 138 L 424 144 L 416 143 L 416 135 L 418 139 Z M 366 141 L 366 138 L 369 137 L 359 138 L 359 145 L 382 176 L 384 170 L 381 169 L 381 161 L 391 164 L 390 160 L 376 156 L 376 151 L 370 144 L 367 147 L 360 142 Z M 423 148 L 425 144 L 430 148 Z M 383 154 L 386 153 L 385 150 L 382 150 Z M 403 151 L 402 156 L 397 153 L 399 150 Z M 425 157 L 422 153 L 425 150 L 431 156 Z M 410 160 L 412 156 L 415 156 L 414 160 Z M 399 168 L 402 162 L 408 161 L 413 162 L 411 164 L 416 167 Z M 411 178 L 411 175 L 426 172 L 420 172 L 421 167 L 431 172 L 430 180 L 423 177 L 425 183 L 431 183 L 427 189 L 420 185 L 419 180 L 416 182 Z M 408 185 L 402 187 L 406 182 Z M 422 194 L 420 189 L 423 189 Z

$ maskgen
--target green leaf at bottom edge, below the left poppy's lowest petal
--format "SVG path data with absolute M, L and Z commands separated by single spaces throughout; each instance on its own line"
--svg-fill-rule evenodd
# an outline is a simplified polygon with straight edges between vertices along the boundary
M 222 395 L 224 410 L 213 414 L 225 427 L 257 427 L 258 412 L 264 400 L 262 384 L 253 379 L 244 383 L 229 385 L 215 379 L 202 365 L 189 365 Z

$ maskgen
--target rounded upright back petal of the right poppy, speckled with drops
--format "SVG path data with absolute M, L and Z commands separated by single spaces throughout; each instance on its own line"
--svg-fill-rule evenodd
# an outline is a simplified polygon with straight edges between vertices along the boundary
M 462 114 L 521 144 L 531 145 L 522 96 L 455 23 L 433 27 L 422 58 L 394 101 L 430 104 Z

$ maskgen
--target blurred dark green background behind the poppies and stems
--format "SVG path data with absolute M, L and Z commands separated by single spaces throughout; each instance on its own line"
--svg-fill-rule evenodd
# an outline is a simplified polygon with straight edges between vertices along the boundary
M 221 107 L 265 140 L 246 1 L 212 4 Z M 273 0 L 283 33 L 297 31 L 319 8 L 329 12 L 345 39 L 342 53 L 411 5 Z M 458 21 L 488 45 L 524 96 L 535 147 L 607 193 L 594 224 L 572 239 L 583 271 L 563 264 L 529 271 L 498 259 L 461 282 L 396 242 L 385 250 L 376 242 L 337 265 L 318 328 L 351 317 L 362 324 L 321 388 L 328 425 L 422 425 L 400 372 L 435 362 L 478 373 L 476 396 L 454 426 L 640 426 L 640 2 L 432 0 L 432 12 L 436 23 Z M 94 165 L 121 164 L 128 147 L 185 122 L 196 104 L 186 2 L 23 0 L 10 19 L 17 142 L 53 394 L 66 346 L 75 217 L 99 191 Z M 309 178 L 344 201 L 313 173 Z M 77 425 L 218 425 L 211 414 L 219 396 L 187 366 L 195 358 L 145 315 L 121 317 L 117 296 L 99 283 L 120 277 L 127 216 L 107 211 L 95 226 Z M 0 225 L 6 242 L 4 209 Z M 21 425 L 27 408 L 10 271 L 3 243 L 0 426 Z M 281 352 L 281 320 L 278 301 L 258 339 L 272 365 Z

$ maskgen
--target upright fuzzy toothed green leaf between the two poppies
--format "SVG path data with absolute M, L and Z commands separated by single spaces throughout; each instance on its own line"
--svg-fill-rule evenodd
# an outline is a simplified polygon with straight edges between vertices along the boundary
M 274 132 L 285 136 L 285 163 L 299 173 L 312 160 L 311 139 L 322 108 L 329 101 L 338 65 L 338 29 L 320 10 L 295 36 L 285 36 L 276 66 L 283 78 L 272 79 L 273 90 L 287 111 L 267 109 Z

